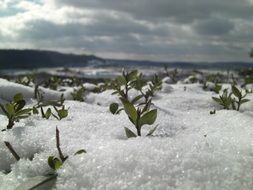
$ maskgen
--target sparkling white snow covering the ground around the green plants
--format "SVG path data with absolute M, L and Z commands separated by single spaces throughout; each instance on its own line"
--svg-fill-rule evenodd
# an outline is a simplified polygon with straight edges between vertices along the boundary
M 16 92 L 33 97 L 31 88 L 0 80 L 2 100 Z M 111 92 L 90 93 L 87 102 L 66 101 L 69 116 L 62 121 L 32 116 L 1 132 L 0 189 L 13 190 L 29 177 L 52 173 L 47 158 L 57 156 L 56 126 L 63 154 L 70 156 L 58 170 L 57 190 L 253 188 L 251 94 L 241 112 L 227 111 L 220 110 L 211 98 L 217 95 L 204 91 L 201 84 L 164 83 L 154 98 L 159 124 L 154 137 L 127 139 L 123 128 L 134 128 L 124 112 L 109 112 L 108 105 L 118 101 Z M 55 97 L 53 91 L 46 94 Z M 220 111 L 210 115 L 213 109 Z M 0 115 L 0 127 L 6 124 Z M 144 126 L 143 133 L 150 128 Z M 13 145 L 22 157 L 19 162 L 3 141 Z M 83 148 L 86 154 L 73 156 Z

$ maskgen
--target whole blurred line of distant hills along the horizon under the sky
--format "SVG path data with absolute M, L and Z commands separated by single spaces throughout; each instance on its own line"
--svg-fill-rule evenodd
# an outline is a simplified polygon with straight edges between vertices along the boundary
M 53 67 L 164 67 L 179 69 L 223 69 L 253 67 L 248 62 L 159 62 L 103 59 L 94 55 L 64 54 L 42 50 L 1 50 L 0 69 L 36 69 Z

